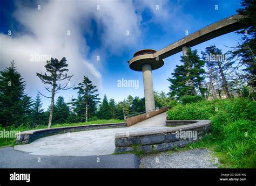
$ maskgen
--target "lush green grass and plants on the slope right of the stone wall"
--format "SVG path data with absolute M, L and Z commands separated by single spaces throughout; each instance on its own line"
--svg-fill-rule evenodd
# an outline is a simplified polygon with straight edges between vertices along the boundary
M 212 148 L 224 167 L 256 168 L 256 102 L 243 98 L 177 104 L 171 120 L 210 119 L 212 135 L 189 148 Z

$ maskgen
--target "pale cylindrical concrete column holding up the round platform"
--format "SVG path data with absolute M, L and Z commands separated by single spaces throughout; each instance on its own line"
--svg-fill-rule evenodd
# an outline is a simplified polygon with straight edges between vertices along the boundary
M 145 107 L 146 107 L 146 111 L 149 111 L 149 110 L 156 109 L 156 106 L 154 103 L 154 89 L 153 89 L 151 65 L 144 64 L 142 66 L 142 71 L 143 71 Z

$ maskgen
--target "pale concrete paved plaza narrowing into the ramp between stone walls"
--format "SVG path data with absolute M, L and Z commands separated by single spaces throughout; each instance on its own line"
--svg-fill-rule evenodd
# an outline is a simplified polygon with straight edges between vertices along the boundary
M 130 127 L 57 134 L 37 139 L 31 144 L 16 145 L 14 148 L 17 151 L 32 155 L 108 155 L 114 152 L 114 134 L 163 128 L 165 127 L 165 119 L 166 113 L 161 113 Z

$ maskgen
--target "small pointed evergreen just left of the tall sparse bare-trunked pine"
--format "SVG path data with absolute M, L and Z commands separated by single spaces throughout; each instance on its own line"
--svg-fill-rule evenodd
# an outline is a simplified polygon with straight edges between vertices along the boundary
M 37 93 L 35 102 L 32 106 L 32 123 L 33 125 L 42 125 L 44 123 L 44 110 L 42 109 L 43 103 L 39 93 Z

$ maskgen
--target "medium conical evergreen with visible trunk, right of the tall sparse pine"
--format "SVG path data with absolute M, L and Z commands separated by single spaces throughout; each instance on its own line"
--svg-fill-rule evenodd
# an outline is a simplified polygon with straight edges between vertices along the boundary
M 84 80 L 82 83 L 78 84 L 78 87 L 73 89 L 78 89 L 78 95 L 80 96 L 80 102 L 83 105 L 84 118 L 85 122 L 91 116 L 95 116 L 96 114 L 96 106 L 98 103 L 99 94 L 96 94 L 98 91 L 96 86 L 92 84 L 88 77 L 84 76 Z M 82 109 L 82 108 L 81 108 Z

